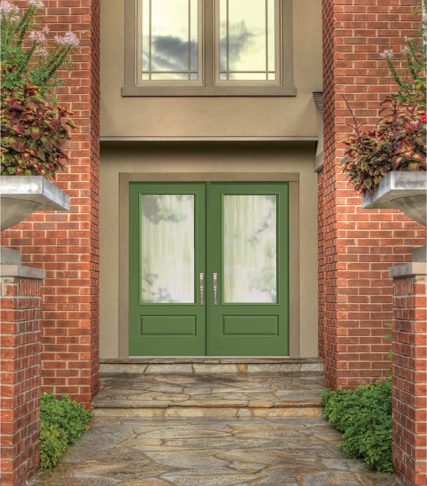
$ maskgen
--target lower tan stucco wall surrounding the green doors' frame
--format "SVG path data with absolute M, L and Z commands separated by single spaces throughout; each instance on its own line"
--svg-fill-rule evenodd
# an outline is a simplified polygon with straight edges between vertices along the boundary
M 118 358 L 119 173 L 299 173 L 301 357 L 317 357 L 317 174 L 314 142 L 103 142 L 100 201 L 101 358 Z M 167 175 L 165 175 L 167 180 Z

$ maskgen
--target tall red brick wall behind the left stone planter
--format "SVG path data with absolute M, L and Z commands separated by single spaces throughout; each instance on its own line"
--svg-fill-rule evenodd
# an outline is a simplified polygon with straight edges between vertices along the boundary
M 17 2 L 20 6 L 27 2 Z M 60 105 L 78 130 L 70 162 L 55 184 L 71 197 L 70 213 L 38 213 L 2 233 L 3 245 L 22 250 L 24 265 L 44 268 L 42 383 L 44 391 L 89 402 L 99 388 L 99 0 L 45 0 L 50 38 L 77 33 L 74 72 L 64 72 Z M 48 12 L 48 15 L 46 13 Z

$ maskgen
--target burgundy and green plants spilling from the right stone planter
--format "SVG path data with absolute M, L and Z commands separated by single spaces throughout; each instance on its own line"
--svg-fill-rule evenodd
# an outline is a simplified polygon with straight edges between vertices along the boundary
M 416 39 L 405 37 L 400 54 L 386 49 L 381 53 L 397 89 L 382 102 L 380 118 L 373 130 L 363 131 L 354 111 L 350 110 L 353 134 L 342 140 L 347 146 L 339 163 L 350 185 L 365 195 L 373 192 L 379 181 L 391 171 L 425 171 L 426 162 L 426 18 Z

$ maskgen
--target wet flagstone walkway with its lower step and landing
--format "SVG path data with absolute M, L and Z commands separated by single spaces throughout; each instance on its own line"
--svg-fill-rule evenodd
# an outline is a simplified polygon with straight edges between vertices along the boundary
M 90 430 L 28 485 L 395 486 L 345 458 L 322 387 L 314 371 L 104 373 Z

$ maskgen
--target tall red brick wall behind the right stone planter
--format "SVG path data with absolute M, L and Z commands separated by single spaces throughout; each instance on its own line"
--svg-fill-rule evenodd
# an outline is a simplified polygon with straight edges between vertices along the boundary
M 323 0 L 324 168 L 319 173 L 320 355 L 326 385 L 354 387 L 387 374 L 392 279 L 388 268 L 411 259 L 425 244 L 425 227 L 390 210 L 362 210 L 361 199 L 340 173 L 339 141 L 351 132 L 351 115 L 374 125 L 392 84 L 379 75 L 379 56 L 400 51 L 414 35 L 416 0 Z

